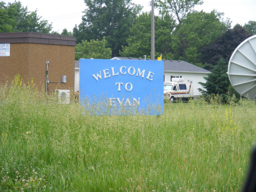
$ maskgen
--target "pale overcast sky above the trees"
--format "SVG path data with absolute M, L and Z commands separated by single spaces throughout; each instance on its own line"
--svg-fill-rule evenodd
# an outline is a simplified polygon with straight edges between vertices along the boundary
M 5 3 L 14 0 L 0 0 Z M 20 0 L 24 7 L 28 10 L 38 10 L 38 15 L 42 19 L 53 23 L 53 31 L 62 32 L 63 28 L 68 31 L 73 31 L 75 24 L 79 25 L 82 22 L 82 11 L 84 11 L 84 0 Z M 133 0 L 136 4 L 143 5 L 143 11 L 150 11 L 151 7 L 148 5 L 150 0 Z M 197 5 L 195 10 L 203 10 L 207 13 L 216 9 L 223 12 L 224 19 L 230 18 L 232 26 L 235 24 L 244 25 L 250 20 L 256 21 L 256 1 L 255 0 L 203 0 L 202 5 Z M 155 11 L 157 13 L 157 11 Z

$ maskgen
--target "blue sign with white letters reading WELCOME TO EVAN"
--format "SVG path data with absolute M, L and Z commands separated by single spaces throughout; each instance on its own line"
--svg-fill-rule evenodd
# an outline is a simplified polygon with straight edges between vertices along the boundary
M 92 115 L 161 115 L 164 61 L 80 59 L 80 102 Z

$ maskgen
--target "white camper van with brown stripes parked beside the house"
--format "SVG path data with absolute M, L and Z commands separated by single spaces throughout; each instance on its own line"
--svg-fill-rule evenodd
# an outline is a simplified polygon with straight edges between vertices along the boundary
M 172 78 L 172 82 L 164 82 L 164 99 L 170 100 L 172 103 L 175 100 L 182 99 L 183 102 L 188 101 L 188 98 L 193 98 L 192 82 L 184 82 L 183 78 Z

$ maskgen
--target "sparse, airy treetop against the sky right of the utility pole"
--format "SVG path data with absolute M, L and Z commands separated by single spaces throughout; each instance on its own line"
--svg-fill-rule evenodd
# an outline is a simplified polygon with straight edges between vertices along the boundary
M 156 7 L 159 8 L 162 14 L 171 14 L 181 25 L 183 19 L 193 11 L 195 5 L 201 5 L 202 3 L 202 0 L 156 0 Z

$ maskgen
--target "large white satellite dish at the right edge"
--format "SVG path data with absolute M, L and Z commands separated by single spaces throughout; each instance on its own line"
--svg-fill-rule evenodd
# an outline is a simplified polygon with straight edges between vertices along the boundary
M 228 75 L 240 95 L 256 98 L 256 35 L 237 46 L 229 60 Z

